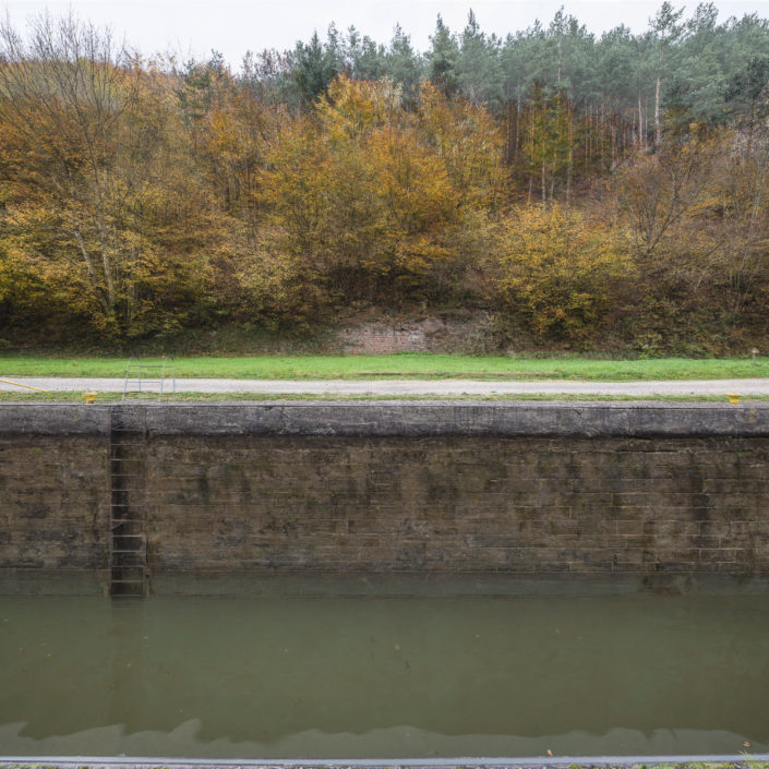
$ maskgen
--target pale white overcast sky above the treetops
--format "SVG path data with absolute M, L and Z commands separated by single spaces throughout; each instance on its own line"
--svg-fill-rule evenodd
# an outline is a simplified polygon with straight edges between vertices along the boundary
M 470 8 L 481 28 L 504 36 L 539 19 L 549 23 L 561 5 L 588 29 L 626 24 L 634 32 L 646 28 L 662 0 L 0 0 L 0 9 L 23 26 L 33 14 L 48 9 L 55 14 L 70 9 L 99 25 L 109 25 L 119 37 L 145 55 L 176 51 L 205 57 L 215 48 L 238 65 L 247 50 L 293 48 L 317 29 L 324 36 L 335 22 L 340 29 L 353 24 L 380 43 L 389 40 L 400 23 L 418 50 L 430 46 L 440 13 L 458 32 Z M 673 2 L 675 7 L 683 5 Z M 769 16 L 769 0 L 719 0 L 721 19 L 756 12 Z M 686 3 L 690 12 L 696 2 Z

